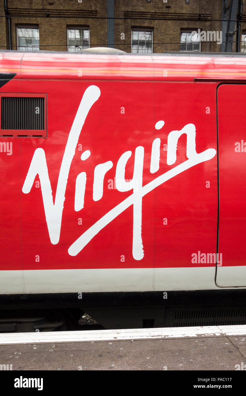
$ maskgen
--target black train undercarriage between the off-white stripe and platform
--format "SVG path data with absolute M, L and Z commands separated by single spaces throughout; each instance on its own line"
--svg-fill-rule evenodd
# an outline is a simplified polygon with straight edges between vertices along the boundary
M 233 324 L 246 324 L 245 289 L 0 296 L 1 333 Z

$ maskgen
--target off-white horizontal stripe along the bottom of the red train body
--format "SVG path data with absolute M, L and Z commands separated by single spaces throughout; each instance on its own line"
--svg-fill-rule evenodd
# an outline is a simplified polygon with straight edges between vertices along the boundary
M 225 289 L 245 289 L 246 267 L 220 267 L 218 274 Z M 24 284 L 21 276 L 19 270 L 0 271 L 0 294 L 222 290 L 214 282 L 215 267 L 24 270 Z

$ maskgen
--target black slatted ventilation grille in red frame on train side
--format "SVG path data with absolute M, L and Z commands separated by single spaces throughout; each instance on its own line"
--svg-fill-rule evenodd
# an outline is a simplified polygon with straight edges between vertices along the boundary
M 44 130 L 45 99 L 36 97 L 2 97 L 1 129 Z

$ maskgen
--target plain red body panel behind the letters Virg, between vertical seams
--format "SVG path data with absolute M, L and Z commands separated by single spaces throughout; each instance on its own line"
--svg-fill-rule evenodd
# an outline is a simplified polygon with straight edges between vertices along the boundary
M 42 142 L 41 139 L 22 139 L 21 180 L 24 183 L 34 151 L 41 147 L 45 152 L 54 200 L 69 131 L 83 94 L 90 84 L 65 81 L 57 83 L 52 80 L 36 82 L 37 89 L 41 86 L 48 95 L 48 139 L 42 139 Z M 58 244 L 51 244 L 49 238 L 41 188 L 33 186 L 29 194 L 21 193 L 25 269 L 153 266 L 153 194 L 147 196 L 143 202 L 143 260 L 136 261 L 132 255 L 132 206 L 96 234 L 80 253 L 76 256 L 68 254 L 69 246 L 83 232 L 132 194 L 132 191 L 121 192 L 116 189 L 116 165 L 124 152 L 132 152 L 126 165 L 126 179 L 133 177 L 135 148 L 139 145 L 144 147 L 146 153 L 143 184 L 153 179 L 149 171 L 154 122 L 153 83 L 136 82 L 134 89 L 128 82 L 98 82 L 97 86 L 101 95 L 88 112 L 71 162 Z M 22 90 L 29 89 L 30 82 L 22 82 Z M 83 151 L 78 145 L 82 145 Z M 81 154 L 86 150 L 90 150 L 90 157 L 81 161 Z M 113 167 L 105 175 L 102 198 L 94 201 L 94 169 L 98 164 L 107 161 L 112 161 Z M 85 201 L 84 208 L 76 212 L 75 183 L 77 175 L 81 172 L 86 172 Z M 39 181 L 39 177 L 35 180 Z M 82 225 L 78 224 L 80 218 Z M 35 262 L 36 255 L 40 256 L 39 263 Z M 122 255 L 124 261 L 121 261 Z

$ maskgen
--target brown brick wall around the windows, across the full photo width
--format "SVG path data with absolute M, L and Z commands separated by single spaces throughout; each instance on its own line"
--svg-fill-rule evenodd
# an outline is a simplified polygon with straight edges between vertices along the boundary
M 190 0 L 189 4 L 185 0 L 164 1 L 115 0 L 115 18 L 118 18 L 115 19 L 115 48 L 131 52 L 131 29 L 134 27 L 153 29 L 155 53 L 179 51 L 181 29 L 220 32 L 222 0 Z M 3 0 L 0 1 L 0 15 L 4 15 L 3 3 Z M 107 46 L 107 19 L 94 19 L 95 16 L 107 17 L 107 0 L 44 0 L 43 3 L 46 13 L 51 17 L 45 16 L 42 0 L 8 0 L 13 49 L 17 46 L 18 25 L 38 25 L 39 45 L 43 50 L 67 51 L 68 25 L 88 26 L 90 47 Z M 201 20 L 197 21 L 199 13 Z M 246 4 L 243 13 L 246 13 Z M 34 16 L 26 16 L 30 14 Z M 163 16 L 168 19 L 158 19 Z M 246 32 L 246 19 L 242 22 L 242 30 Z M 233 51 L 236 50 L 235 41 L 236 35 Z M 2 49 L 7 48 L 7 42 L 6 19 L 1 18 Z M 201 51 L 220 51 L 220 45 L 202 42 Z

